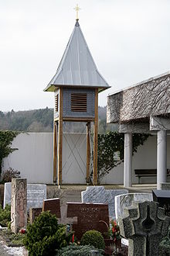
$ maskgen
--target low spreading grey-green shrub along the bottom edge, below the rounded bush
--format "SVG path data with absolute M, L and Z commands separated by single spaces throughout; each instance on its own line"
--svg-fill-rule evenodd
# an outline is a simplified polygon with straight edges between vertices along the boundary
M 92 245 L 69 245 L 56 253 L 56 256 L 87 256 L 91 250 L 99 251 L 99 256 L 103 255 L 103 250 L 95 249 Z

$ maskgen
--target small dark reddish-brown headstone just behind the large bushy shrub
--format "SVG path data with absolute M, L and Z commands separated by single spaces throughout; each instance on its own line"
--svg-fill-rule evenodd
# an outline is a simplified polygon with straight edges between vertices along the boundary
M 50 211 L 57 218 L 61 217 L 59 199 L 46 199 L 43 201 L 42 211 Z

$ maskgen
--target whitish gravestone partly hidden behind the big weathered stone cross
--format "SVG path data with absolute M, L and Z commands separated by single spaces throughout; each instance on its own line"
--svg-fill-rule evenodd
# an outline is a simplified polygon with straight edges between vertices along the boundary
M 129 193 L 115 196 L 116 219 L 123 217 L 124 208 L 132 206 L 134 202 L 153 201 L 151 193 Z

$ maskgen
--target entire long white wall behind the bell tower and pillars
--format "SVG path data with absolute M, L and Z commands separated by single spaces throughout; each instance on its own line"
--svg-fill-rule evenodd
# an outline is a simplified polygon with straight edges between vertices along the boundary
M 167 146 L 167 152 L 170 152 L 170 136 Z M 17 169 L 29 183 L 53 183 L 53 133 L 20 133 L 13 140 L 12 147 L 19 150 L 4 159 L 3 170 L 9 167 Z M 86 134 L 63 134 L 63 184 L 86 183 L 86 147 Z M 134 169 L 156 168 L 156 150 L 156 136 L 149 137 L 143 146 L 138 147 L 132 164 L 134 183 L 138 183 Z M 170 168 L 170 159 L 167 159 L 167 168 Z M 156 177 L 141 178 L 141 182 L 156 182 Z M 123 164 L 110 171 L 101 183 L 123 184 Z

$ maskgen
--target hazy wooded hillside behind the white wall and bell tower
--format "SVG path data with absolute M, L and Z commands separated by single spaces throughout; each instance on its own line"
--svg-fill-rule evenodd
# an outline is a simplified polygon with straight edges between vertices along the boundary
M 106 123 L 106 107 L 99 106 L 99 133 L 116 130 L 117 126 Z M 0 130 L 17 130 L 25 132 L 53 132 L 53 109 L 34 109 L 11 112 L 0 111 Z M 64 132 L 86 132 L 86 123 L 66 122 Z

